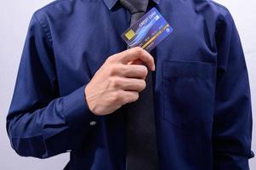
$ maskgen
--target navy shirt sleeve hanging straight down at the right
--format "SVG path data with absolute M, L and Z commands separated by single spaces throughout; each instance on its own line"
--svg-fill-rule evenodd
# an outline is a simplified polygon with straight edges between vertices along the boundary
M 213 120 L 214 169 L 248 170 L 253 157 L 252 109 L 247 66 L 240 37 L 229 12 L 216 31 L 218 73 Z

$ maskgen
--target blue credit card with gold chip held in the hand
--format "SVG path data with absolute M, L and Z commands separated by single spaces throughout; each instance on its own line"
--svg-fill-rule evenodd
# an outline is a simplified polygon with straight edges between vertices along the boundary
M 133 26 L 122 33 L 122 39 L 130 48 L 141 47 L 150 52 L 173 31 L 156 8 L 151 8 Z

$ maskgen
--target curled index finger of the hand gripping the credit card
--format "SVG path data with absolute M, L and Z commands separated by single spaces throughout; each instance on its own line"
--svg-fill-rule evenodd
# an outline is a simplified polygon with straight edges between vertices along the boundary
M 134 61 L 136 59 L 139 59 L 143 63 L 145 63 L 151 69 L 151 71 L 155 71 L 156 66 L 154 58 L 143 48 L 129 48 L 128 50 L 123 51 L 121 53 L 120 60 L 123 64 L 128 64 L 129 62 Z

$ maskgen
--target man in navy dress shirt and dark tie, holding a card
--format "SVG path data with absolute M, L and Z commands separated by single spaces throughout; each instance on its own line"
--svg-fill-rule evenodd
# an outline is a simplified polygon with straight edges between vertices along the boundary
M 121 37 L 139 4 L 174 28 L 151 54 Z M 48 4 L 31 19 L 7 129 L 20 156 L 71 152 L 66 169 L 249 169 L 249 83 L 229 11 L 206 0 Z

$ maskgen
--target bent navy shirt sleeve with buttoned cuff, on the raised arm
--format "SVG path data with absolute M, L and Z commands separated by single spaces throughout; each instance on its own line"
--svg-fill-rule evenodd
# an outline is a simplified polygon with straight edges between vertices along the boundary
M 60 96 L 54 52 L 44 26 L 34 14 L 20 60 L 7 131 L 20 156 L 46 158 L 77 150 L 97 121 L 84 96 L 86 85 Z

